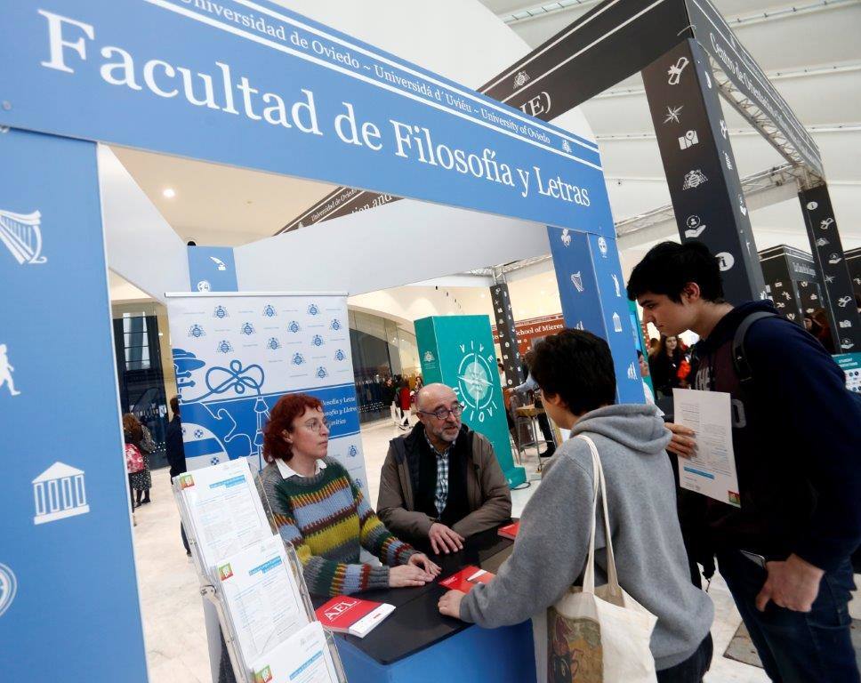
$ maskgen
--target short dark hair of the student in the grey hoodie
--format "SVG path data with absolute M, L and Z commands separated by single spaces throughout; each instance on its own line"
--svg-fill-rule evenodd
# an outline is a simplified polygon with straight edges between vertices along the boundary
M 559 396 L 575 415 L 616 402 L 610 347 L 583 330 L 562 330 L 535 345 L 532 377 L 547 396 Z

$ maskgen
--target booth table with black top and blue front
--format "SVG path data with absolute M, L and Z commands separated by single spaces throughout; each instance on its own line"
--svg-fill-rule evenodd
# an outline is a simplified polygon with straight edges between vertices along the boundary
M 495 573 L 511 554 L 513 542 L 490 529 L 464 543 L 453 555 L 432 556 L 445 579 L 464 566 Z M 366 591 L 358 598 L 388 602 L 395 611 L 364 639 L 337 634 L 335 642 L 350 683 L 470 683 L 535 680 L 532 624 L 482 629 L 439 614 L 446 589 L 439 582 L 417 588 Z M 326 602 L 315 598 L 314 607 Z

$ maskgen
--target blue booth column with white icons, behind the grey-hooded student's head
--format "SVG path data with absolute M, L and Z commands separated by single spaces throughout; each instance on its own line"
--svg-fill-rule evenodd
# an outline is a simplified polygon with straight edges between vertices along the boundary
M 643 403 L 632 328 L 616 240 L 547 227 L 565 325 L 606 340 L 616 368 L 616 400 Z

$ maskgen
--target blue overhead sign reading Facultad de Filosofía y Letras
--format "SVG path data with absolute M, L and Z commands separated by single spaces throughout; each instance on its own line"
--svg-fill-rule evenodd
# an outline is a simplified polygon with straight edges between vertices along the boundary
M 2 124 L 614 234 L 594 142 L 266 0 L 7 3 L 0 62 Z

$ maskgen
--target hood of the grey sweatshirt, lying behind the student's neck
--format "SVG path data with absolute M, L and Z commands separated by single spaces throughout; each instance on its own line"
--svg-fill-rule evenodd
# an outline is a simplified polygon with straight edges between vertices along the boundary
M 571 437 L 583 432 L 599 434 L 641 455 L 664 454 L 672 434 L 652 404 L 604 406 L 581 417 Z

